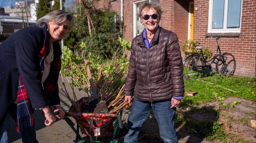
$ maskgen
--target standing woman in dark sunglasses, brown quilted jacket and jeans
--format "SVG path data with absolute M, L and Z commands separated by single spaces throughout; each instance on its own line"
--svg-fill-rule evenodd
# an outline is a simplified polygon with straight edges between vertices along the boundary
M 138 12 L 145 29 L 131 46 L 125 101 L 135 97 L 124 143 L 139 142 L 141 125 L 151 111 L 164 142 L 178 143 L 174 114 L 184 95 L 182 58 L 176 34 L 159 26 L 161 14 L 160 6 L 153 3 L 142 3 Z

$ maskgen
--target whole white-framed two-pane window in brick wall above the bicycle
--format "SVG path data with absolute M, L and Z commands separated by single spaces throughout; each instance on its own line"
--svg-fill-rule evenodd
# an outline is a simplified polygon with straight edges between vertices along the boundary
M 241 31 L 242 0 L 210 0 L 208 33 Z

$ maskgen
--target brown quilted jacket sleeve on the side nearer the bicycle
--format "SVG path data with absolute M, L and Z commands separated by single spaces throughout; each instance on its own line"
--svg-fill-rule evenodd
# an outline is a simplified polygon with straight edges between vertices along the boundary
M 167 42 L 167 56 L 171 70 L 171 77 L 173 83 L 173 96 L 184 95 L 184 81 L 183 81 L 183 64 L 181 53 L 179 50 L 178 37 L 172 34 Z

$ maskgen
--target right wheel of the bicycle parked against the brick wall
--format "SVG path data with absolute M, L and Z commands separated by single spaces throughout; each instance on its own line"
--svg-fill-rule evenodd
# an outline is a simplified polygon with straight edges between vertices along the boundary
M 234 75 L 236 66 L 235 57 L 230 53 L 224 53 L 219 57 L 216 63 L 216 71 L 219 75 L 228 77 Z

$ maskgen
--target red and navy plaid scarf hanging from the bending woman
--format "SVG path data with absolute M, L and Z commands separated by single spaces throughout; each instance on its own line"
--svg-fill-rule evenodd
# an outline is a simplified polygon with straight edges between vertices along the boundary
M 44 60 L 49 54 L 44 46 L 38 54 L 41 71 L 44 71 Z M 58 93 L 58 75 L 60 71 L 60 58 L 53 59 L 49 76 L 44 82 L 44 95 L 49 100 L 49 96 L 54 96 Z M 27 96 L 26 88 L 22 82 L 22 77 L 19 76 L 18 92 L 17 92 L 17 132 L 33 126 L 32 105 Z

